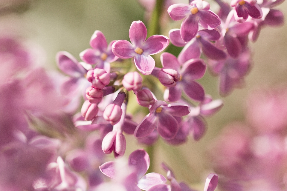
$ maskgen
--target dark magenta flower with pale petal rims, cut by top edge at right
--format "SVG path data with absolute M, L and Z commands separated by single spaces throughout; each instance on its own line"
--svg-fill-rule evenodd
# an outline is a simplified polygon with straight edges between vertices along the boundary
M 232 0 L 230 2 L 231 7 L 234 7 L 234 17 L 238 22 L 244 22 L 251 16 L 254 19 L 260 19 L 262 17 L 262 9 L 256 3 L 257 0 Z

